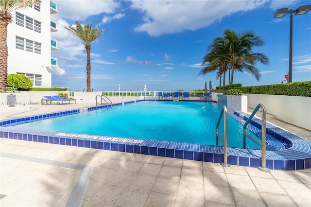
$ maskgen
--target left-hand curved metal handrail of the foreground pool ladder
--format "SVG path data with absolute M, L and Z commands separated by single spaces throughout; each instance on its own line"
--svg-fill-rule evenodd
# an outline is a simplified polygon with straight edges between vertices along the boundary
M 218 133 L 218 126 L 222 119 L 222 116 L 224 114 L 224 139 L 220 136 Z M 225 167 L 229 167 L 230 164 L 228 163 L 228 155 L 227 155 L 227 149 L 228 149 L 228 127 L 227 127 L 227 107 L 224 105 L 222 108 L 222 111 L 220 112 L 220 116 L 218 118 L 217 124 L 216 124 L 216 145 L 218 146 L 218 139 L 223 143 L 224 145 L 224 162 L 221 163 L 221 165 Z

